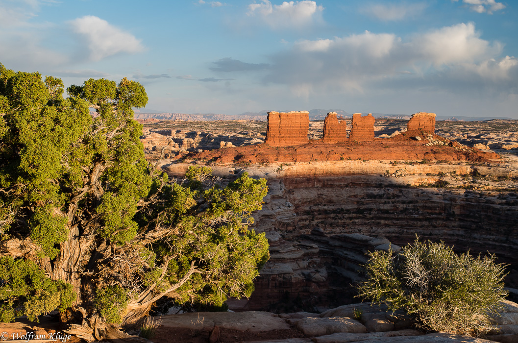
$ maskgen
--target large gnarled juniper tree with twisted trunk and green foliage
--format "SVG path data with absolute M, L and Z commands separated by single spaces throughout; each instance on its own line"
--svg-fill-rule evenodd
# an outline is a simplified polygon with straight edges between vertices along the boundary
M 223 187 L 191 167 L 171 182 L 144 158 L 142 85 L 89 79 L 67 92 L 0 64 L 0 320 L 57 309 L 86 320 L 84 337 L 113 338 L 106 323 L 132 325 L 164 296 L 249 296 L 269 257 L 248 230 L 266 180 Z

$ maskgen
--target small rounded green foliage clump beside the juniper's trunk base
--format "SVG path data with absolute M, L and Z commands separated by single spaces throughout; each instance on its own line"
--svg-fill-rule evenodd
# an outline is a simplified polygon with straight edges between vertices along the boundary
M 119 285 L 108 286 L 97 290 L 95 304 L 107 323 L 120 323 L 128 304 L 128 297 Z

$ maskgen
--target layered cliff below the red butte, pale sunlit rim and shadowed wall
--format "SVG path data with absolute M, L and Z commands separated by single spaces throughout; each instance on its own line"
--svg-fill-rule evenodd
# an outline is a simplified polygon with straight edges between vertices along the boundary
M 188 166 L 171 165 L 169 173 L 181 176 Z M 511 264 L 507 287 L 518 288 L 518 170 L 507 164 L 337 161 L 213 168 L 218 176 L 246 170 L 268 179 L 253 228 L 266 233 L 271 258 L 251 298 L 232 304 L 234 310 L 315 311 L 353 303 L 351 285 L 362 276 L 366 253 L 398 249 L 416 234 L 457 252 L 496 254 Z

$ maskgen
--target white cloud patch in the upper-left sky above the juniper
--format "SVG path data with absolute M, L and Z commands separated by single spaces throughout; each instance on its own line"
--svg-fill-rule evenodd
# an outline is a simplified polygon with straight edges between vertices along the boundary
M 144 50 L 141 41 L 135 36 L 98 17 L 84 16 L 69 23 L 74 32 L 85 40 L 92 61 L 100 61 L 119 53 L 137 53 Z

